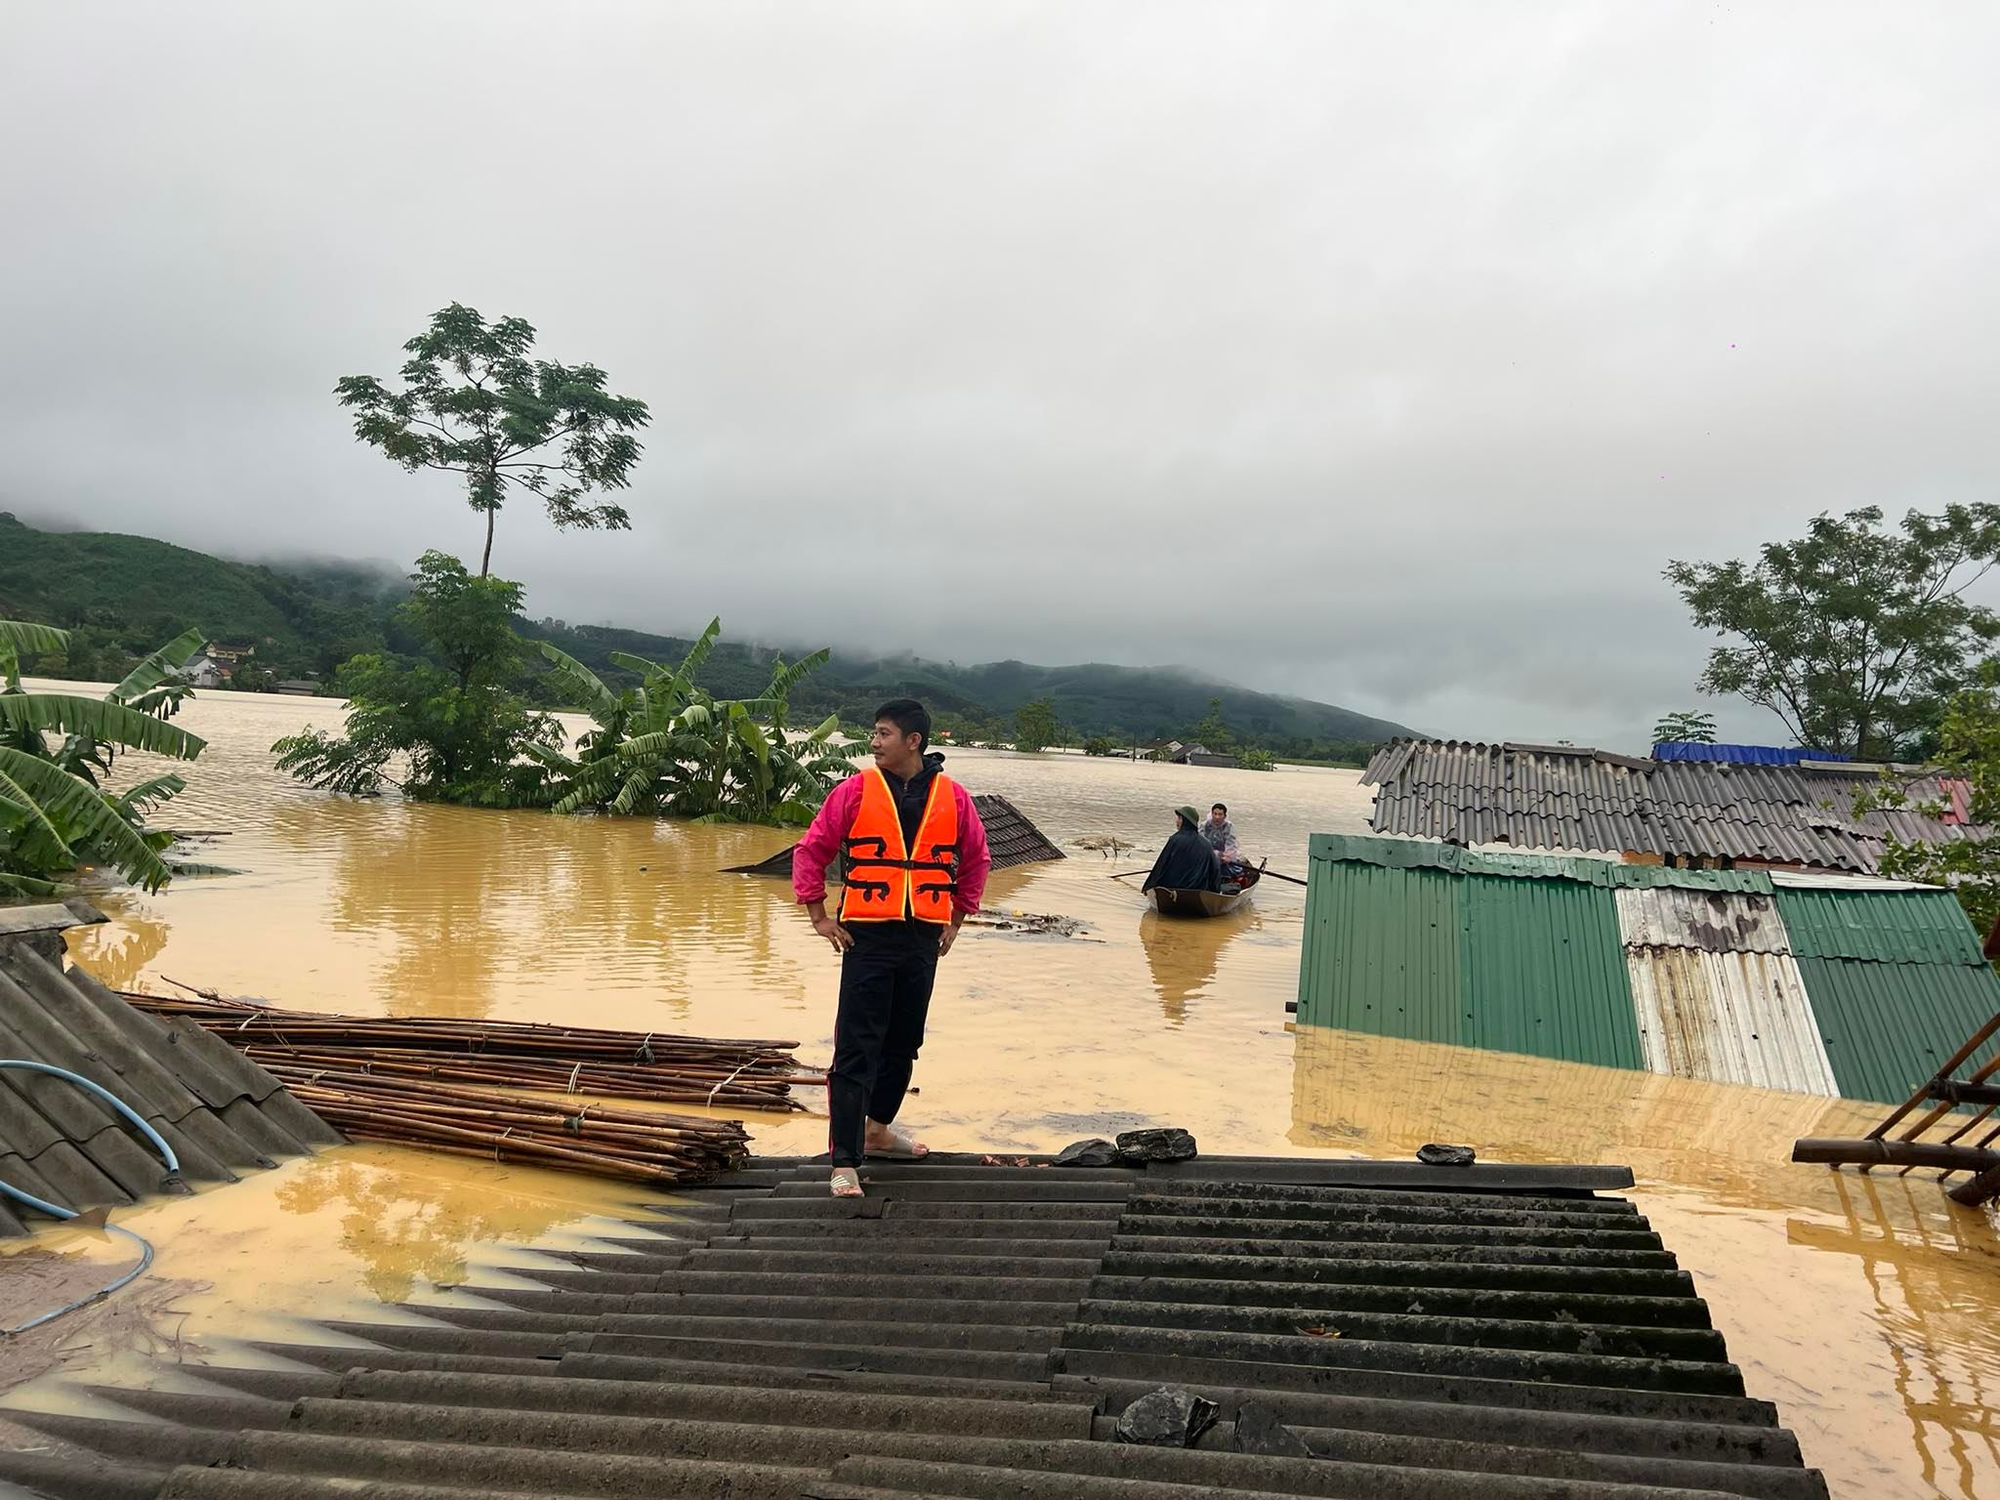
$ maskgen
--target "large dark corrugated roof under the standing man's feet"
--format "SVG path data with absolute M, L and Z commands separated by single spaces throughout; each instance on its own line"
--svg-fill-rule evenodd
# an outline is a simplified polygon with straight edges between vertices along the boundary
M 50 1446 L 0 1478 L 64 1500 L 1826 1496 L 1646 1218 L 1590 1192 L 1622 1168 L 868 1176 L 838 1204 L 824 1164 L 770 1162 L 524 1266 L 538 1288 L 96 1392 L 132 1420 L 10 1412 Z M 1166 1384 L 1220 1420 L 1196 1448 L 1116 1442 Z M 1298 1456 L 1254 1450 L 1260 1416 Z

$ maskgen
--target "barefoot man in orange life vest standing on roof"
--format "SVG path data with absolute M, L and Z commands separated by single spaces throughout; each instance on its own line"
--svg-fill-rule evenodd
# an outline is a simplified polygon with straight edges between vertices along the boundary
M 860 1198 L 866 1156 L 922 1160 L 924 1142 L 896 1128 L 924 1044 L 930 986 L 966 916 L 980 910 L 986 826 L 944 756 L 930 752 L 930 714 L 914 698 L 876 710 L 874 766 L 832 790 L 792 854 L 792 892 L 812 930 L 840 954 L 840 1012 L 826 1078 L 828 1156 L 836 1198 Z M 826 866 L 842 856 L 838 920 L 826 914 Z

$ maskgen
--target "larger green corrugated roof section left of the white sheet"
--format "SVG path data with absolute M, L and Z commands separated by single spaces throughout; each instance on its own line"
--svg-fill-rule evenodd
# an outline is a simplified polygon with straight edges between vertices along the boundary
M 1302 1024 L 1644 1066 L 1608 886 L 1314 856 Z

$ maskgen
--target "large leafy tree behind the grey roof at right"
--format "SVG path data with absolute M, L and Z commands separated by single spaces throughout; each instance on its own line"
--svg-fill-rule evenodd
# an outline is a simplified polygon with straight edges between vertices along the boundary
M 1740 694 L 1800 744 L 1894 760 L 1932 724 L 2000 616 L 1966 590 L 2000 560 L 2000 506 L 1814 516 L 1796 542 L 1750 562 L 1670 562 L 1694 624 L 1740 644 L 1708 654 L 1700 690 Z

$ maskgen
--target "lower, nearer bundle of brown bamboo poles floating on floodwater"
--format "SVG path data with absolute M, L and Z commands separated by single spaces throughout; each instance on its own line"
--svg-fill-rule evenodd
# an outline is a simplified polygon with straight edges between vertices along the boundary
M 750 1154 L 740 1120 L 568 1104 L 270 1058 L 264 1066 L 292 1098 L 356 1140 L 656 1184 L 700 1182 Z

